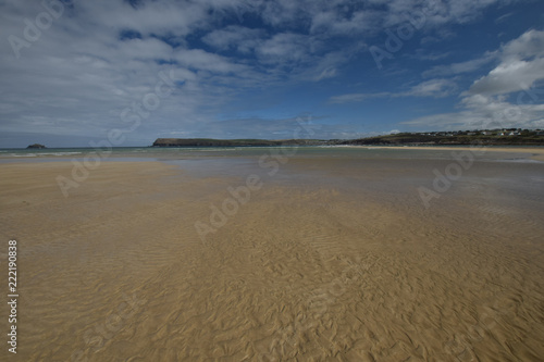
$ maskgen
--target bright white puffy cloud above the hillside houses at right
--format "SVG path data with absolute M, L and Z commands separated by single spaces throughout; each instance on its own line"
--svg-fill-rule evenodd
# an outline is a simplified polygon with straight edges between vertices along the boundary
M 461 93 L 460 112 L 401 124 L 448 129 L 544 127 L 544 90 L 533 87 L 544 79 L 544 32 L 526 32 L 482 61 L 490 58 L 498 64 Z

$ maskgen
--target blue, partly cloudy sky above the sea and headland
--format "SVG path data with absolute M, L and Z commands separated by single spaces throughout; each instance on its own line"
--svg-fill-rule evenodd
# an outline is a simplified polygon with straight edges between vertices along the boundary
M 0 0 L 0 148 L 544 128 L 542 0 Z

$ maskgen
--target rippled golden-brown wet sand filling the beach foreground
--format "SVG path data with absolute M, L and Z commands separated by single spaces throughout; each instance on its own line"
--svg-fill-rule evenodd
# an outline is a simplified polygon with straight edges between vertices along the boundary
M 539 361 L 544 164 L 475 162 L 425 208 L 449 164 L 294 157 L 197 177 L 111 162 L 67 198 L 70 163 L 0 164 L 16 358 Z

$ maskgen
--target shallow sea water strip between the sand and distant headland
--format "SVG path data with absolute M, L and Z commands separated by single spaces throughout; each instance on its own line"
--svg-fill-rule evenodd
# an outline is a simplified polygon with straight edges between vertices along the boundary
M 462 155 L 463 161 L 459 161 Z M 405 147 L 236 147 L 236 148 L 114 148 L 106 153 L 92 148 L 0 149 L 1 163 L 158 161 L 178 166 L 197 178 L 232 177 L 234 184 L 258 175 L 267 184 L 343 185 L 372 195 L 418 197 L 418 188 L 433 189 L 437 173 L 460 172 L 455 189 L 474 185 L 515 184 L 516 192 L 541 198 L 544 162 L 532 153 L 482 149 L 415 149 Z M 467 167 L 467 162 L 470 164 Z M 462 164 L 465 162 L 465 164 Z M 462 165 L 462 167 L 461 167 Z M 455 170 L 454 170 L 455 168 Z M 457 178 L 457 176 L 452 176 Z M 507 179 L 505 179 L 505 177 Z M 234 180 L 235 179 L 235 180 Z M 472 180 L 471 180 L 472 179 Z M 468 180 L 471 180 L 467 184 Z M 470 184 L 470 185 L 469 185 Z M 240 184 L 242 185 L 242 184 Z M 477 186 L 478 186 L 477 185 Z M 478 187 L 477 187 L 478 188 Z M 536 189 L 533 189 L 536 188 Z M 454 189 L 454 188 L 453 188 Z M 448 192 L 453 195 L 453 192 Z

